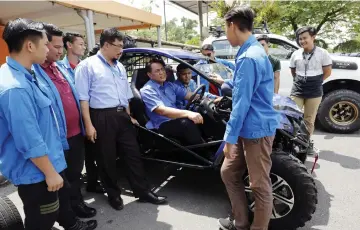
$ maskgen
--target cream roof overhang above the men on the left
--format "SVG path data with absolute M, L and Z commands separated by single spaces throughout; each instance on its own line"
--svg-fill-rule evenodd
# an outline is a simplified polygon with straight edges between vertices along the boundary
M 9 20 L 22 17 L 55 24 L 65 32 L 85 34 L 85 23 L 77 14 L 77 10 L 94 12 L 95 31 L 101 31 L 108 27 L 129 30 L 161 25 L 161 16 L 114 0 L 0 1 L 0 24 L 6 24 Z

